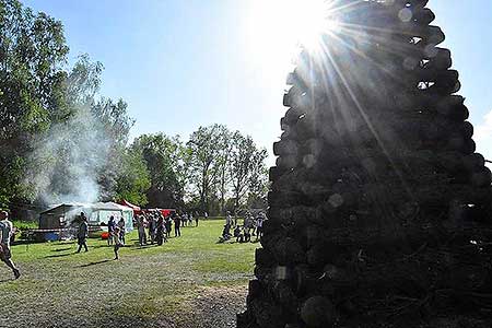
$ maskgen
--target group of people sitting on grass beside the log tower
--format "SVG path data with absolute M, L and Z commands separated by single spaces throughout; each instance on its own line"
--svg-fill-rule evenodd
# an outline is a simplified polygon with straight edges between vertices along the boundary
M 263 212 L 259 212 L 256 216 L 247 212 L 243 225 L 239 225 L 237 218 L 233 218 L 231 212 L 227 212 L 221 241 L 229 241 L 231 237 L 234 237 L 237 243 L 248 243 L 251 241 L 251 236 L 256 236 L 258 241 L 263 234 L 266 220 L 267 216 Z M 234 229 L 233 234 L 231 234 L 231 229 Z

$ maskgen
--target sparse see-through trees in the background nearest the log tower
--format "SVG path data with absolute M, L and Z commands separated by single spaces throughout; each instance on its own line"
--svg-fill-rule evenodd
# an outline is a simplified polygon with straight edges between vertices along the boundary
M 191 199 L 201 211 L 222 213 L 247 206 L 247 199 L 261 200 L 268 191 L 265 160 L 251 137 L 232 132 L 225 126 L 200 127 L 187 143 L 190 153 Z

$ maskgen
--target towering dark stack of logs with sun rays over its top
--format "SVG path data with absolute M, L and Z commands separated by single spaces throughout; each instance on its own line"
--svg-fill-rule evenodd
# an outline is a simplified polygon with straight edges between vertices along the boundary
M 237 327 L 490 327 L 491 172 L 434 13 L 332 3 L 288 78 Z

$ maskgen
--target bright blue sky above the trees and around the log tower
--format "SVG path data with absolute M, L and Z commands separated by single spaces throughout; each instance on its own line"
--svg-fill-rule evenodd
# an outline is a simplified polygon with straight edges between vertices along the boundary
M 71 60 L 86 52 L 104 63 L 102 94 L 129 103 L 137 119 L 132 137 L 163 131 L 186 139 L 199 126 L 220 122 L 270 151 L 281 133 L 290 49 L 282 49 L 288 22 L 280 8 L 258 10 L 269 1 L 23 3 L 62 21 Z M 492 159 L 492 114 L 485 118 L 492 112 L 492 1 L 431 0 L 429 8 L 460 73 L 478 148 Z

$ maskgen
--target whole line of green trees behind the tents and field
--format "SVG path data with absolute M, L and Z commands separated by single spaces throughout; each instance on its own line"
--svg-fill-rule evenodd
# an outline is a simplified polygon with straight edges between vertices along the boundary
M 221 125 L 129 144 L 127 103 L 99 94 L 103 65 L 69 66 L 61 22 L 0 0 L 0 206 L 127 199 L 210 214 L 261 206 L 266 150 Z

